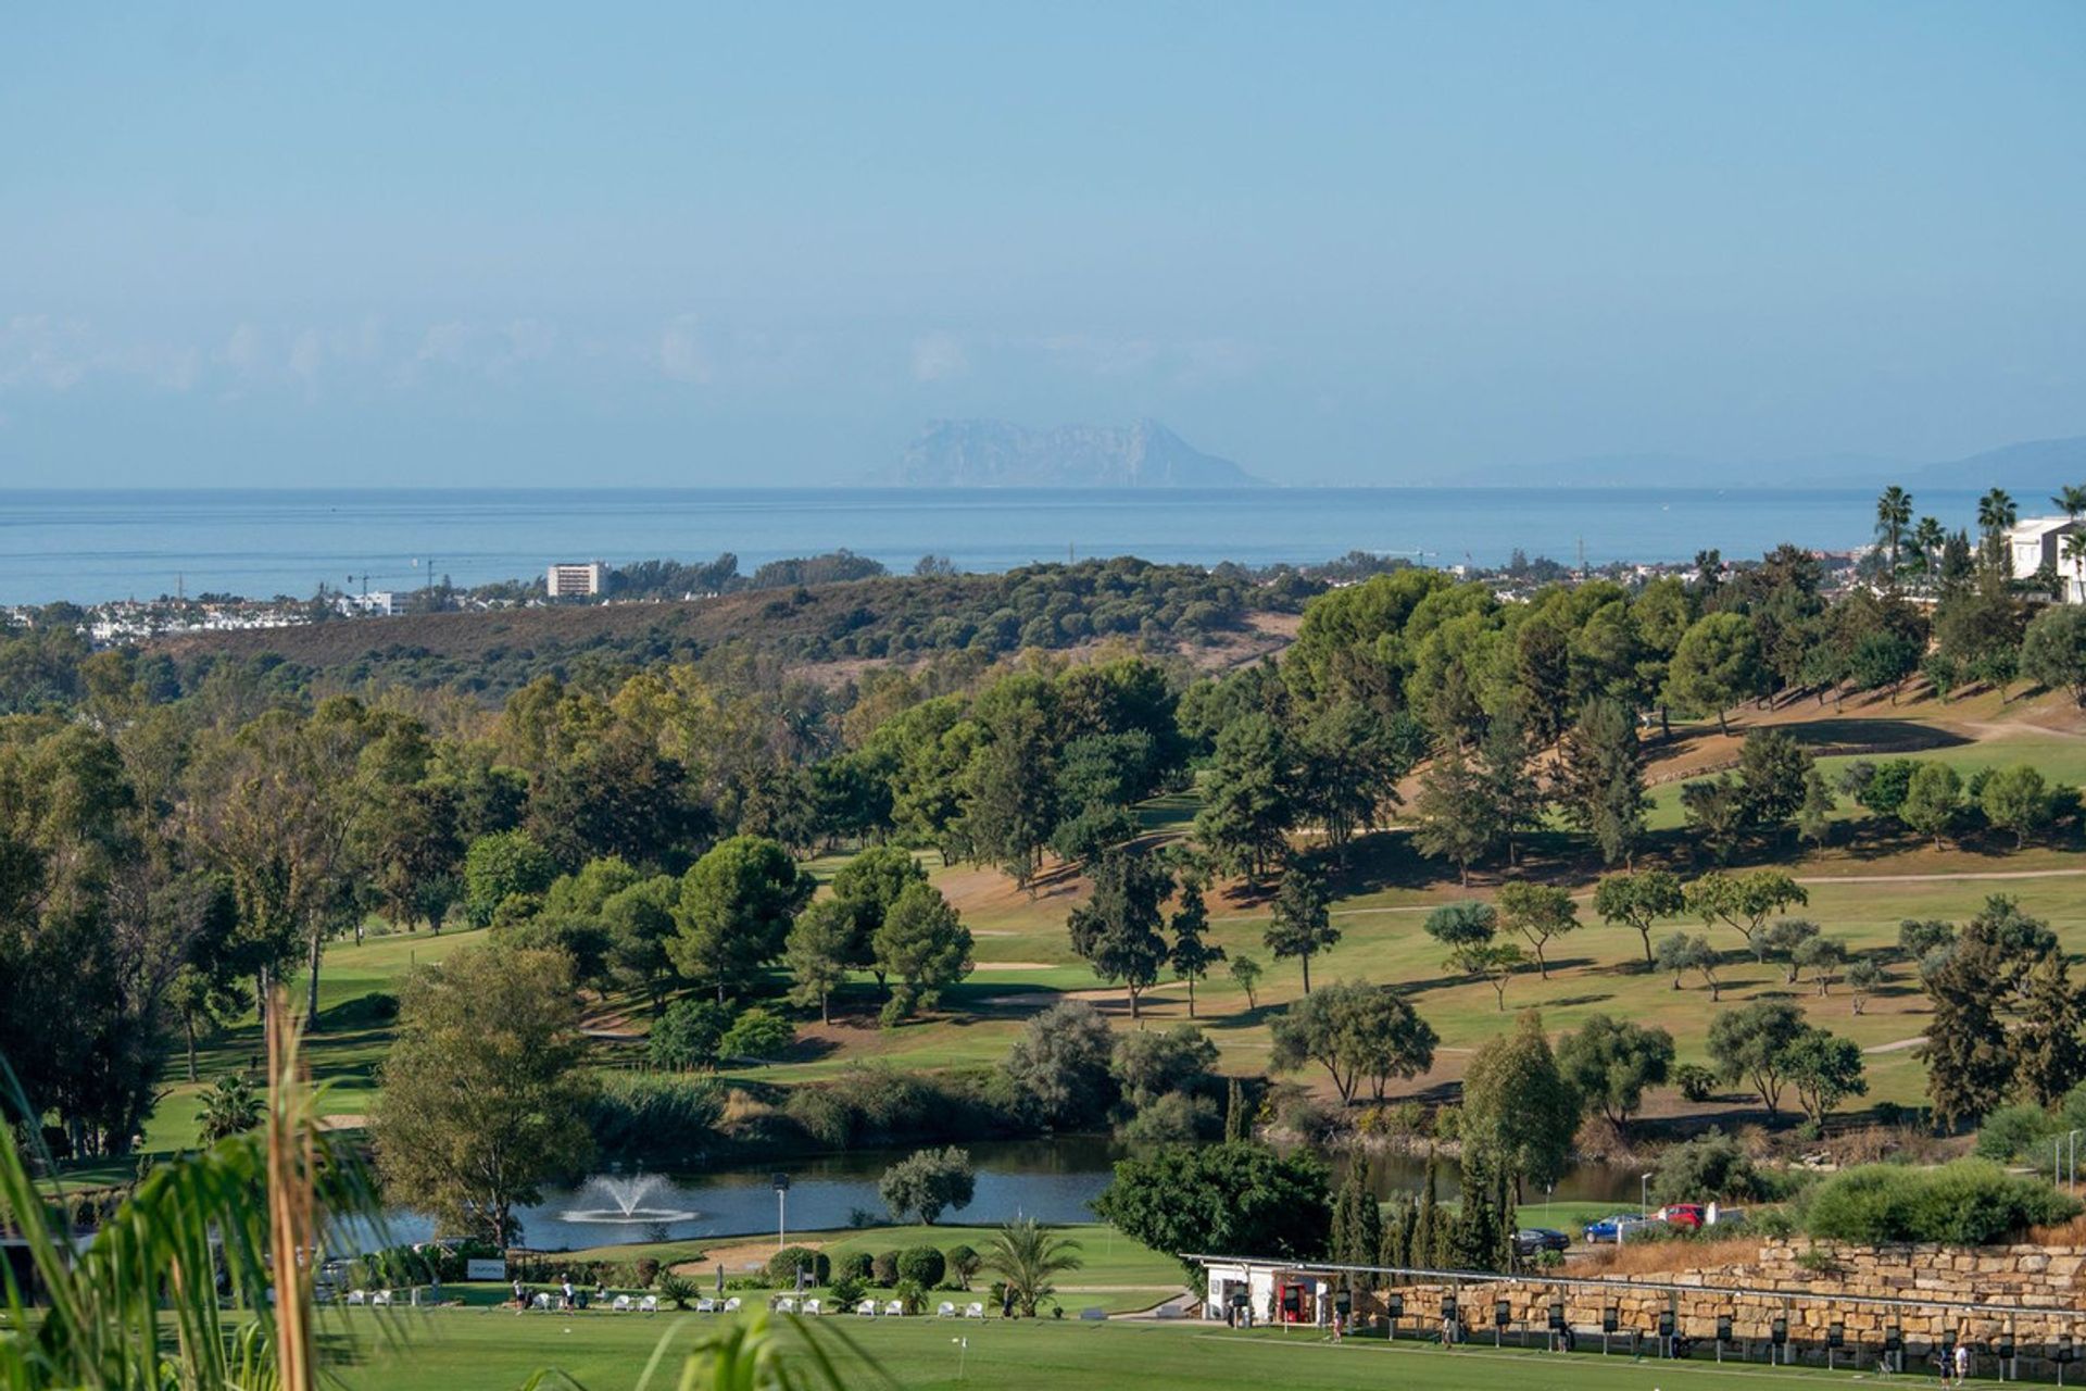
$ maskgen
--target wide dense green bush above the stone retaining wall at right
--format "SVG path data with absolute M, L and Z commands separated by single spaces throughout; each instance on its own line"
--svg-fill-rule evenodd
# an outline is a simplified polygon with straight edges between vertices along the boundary
M 2067 1222 L 2080 1201 L 1990 1160 L 1940 1168 L 1863 1164 L 1811 1191 L 1804 1226 L 1834 1241 L 1988 1245 L 2030 1226 Z

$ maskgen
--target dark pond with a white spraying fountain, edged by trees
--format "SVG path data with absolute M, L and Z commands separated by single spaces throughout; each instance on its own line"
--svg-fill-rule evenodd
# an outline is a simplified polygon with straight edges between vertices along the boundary
M 993 1224 L 1018 1218 L 1039 1222 L 1091 1222 L 1089 1203 L 1108 1187 L 1112 1166 L 1126 1151 L 1108 1137 L 1060 1134 L 1039 1141 L 987 1141 L 966 1145 L 978 1170 L 970 1203 L 943 1216 L 945 1222 Z M 887 1220 L 876 1180 L 905 1151 L 866 1149 L 851 1153 L 776 1160 L 761 1166 L 705 1174 L 605 1174 L 569 1189 L 551 1189 L 544 1201 L 524 1207 L 522 1241 L 542 1251 L 626 1245 L 636 1241 L 682 1241 L 693 1237 L 738 1237 L 776 1230 L 774 1174 L 791 1176 L 789 1228 L 832 1230 L 849 1226 L 857 1212 L 872 1222 Z M 1335 1157 L 1333 1180 L 1352 1164 Z M 1371 1155 L 1371 1187 L 1379 1197 L 1418 1189 L 1427 1162 L 1416 1155 Z M 1441 1197 L 1458 1193 L 1454 1162 L 1441 1164 Z M 1610 1166 L 1579 1166 L 1558 1182 L 1560 1201 L 1615 1201 L 1635 1205 L 1638 1174 Z M 1537 1195 L 1529 1195 L 1539 1201 Z M 630 1212 L 624 1212 L 630 1207 Z M 423 1241 L 434 1224 L 403 1207 L 388 1214 L 392 1241 Z

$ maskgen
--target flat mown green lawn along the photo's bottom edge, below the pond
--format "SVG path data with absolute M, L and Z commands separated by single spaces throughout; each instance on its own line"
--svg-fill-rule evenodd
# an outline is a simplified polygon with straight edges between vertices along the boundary
M 346 1347 L 340 1318 L 328 1322 L 328 1364 L 344 1387 L 369 1391 L 455 1391 L 519 1387 L 542 1368 L 557 1368 L 595 1389 L 634 1387 L 661 1341 L 668 1370 L 715 1326 L 713 1316 L 526 1314 L 496 1310 L 401 1312 L 403 1335 L 384 1347 L 375 1314 L 342 1312 L 357 1331 Z M 789 1331 L 789 1339 L 803 1335 Z M 1633 1362 L 1585 1351 L 1575 1358 L 1539 1351 L 1494 1351 L 1485 1345 L 1444 1351 L 1416 1341 L 1350 1339 L 1327 1343 L 1316 1331 L 1235 1333 L 1206 1324 L 1154 1322 L 964 1322 L 834 1318 L 816 1335 L 847 1360 L 849 1387 L 895 1385 L 993 1387 L 1003 1391 L 1206 1391 L 1212 1387 L 1360 1389 L 1427 1387 L 1429 1391 L 1498 1391 L 1560 1387 L 1564 1391 L 1711 1391 L 1773 1385 L 1821 1385 L 1825 1372 L 1765 1364 Z M 845 1339 L 845 1345 L 843 1345 Z M 851 1347 L 847 1347 L 851 1345 Z M 874 1360 L 889 1381 L 866 1370 Z M 960 1378 L 962 1372 L 962 1378 Z M 1844 1383 L 1846 1372 L 1836 1381 Z M 557 1385 L 557 1383 L 553 1383 Z M 661 1385 L 657 1378 L 653 1385 Z

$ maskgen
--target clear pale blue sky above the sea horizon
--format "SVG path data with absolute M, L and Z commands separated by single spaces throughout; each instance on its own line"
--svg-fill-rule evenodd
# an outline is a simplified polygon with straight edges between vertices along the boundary
M 19 6 L 0 484 L 2086 434 L 2086 6 Z

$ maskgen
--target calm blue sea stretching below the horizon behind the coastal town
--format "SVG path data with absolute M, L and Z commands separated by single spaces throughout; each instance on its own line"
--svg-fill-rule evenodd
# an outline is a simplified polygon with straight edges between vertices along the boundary
M 1973 494 L 1921 494 L 1950 526 Z M 1252 488 L 1181 492 L 676 490 L 0 490 L 0 603 L 311 594 L 321 582 L 484 584 L 551 561 L 711 559 L 741 569 L 847 546 L 893 567 L 926 553 L 1005 569 L 1068 553 L 1149 561 L 1323 561 L 1348 551 L 1498 563 L 1683 561 L 1717 546 L 1869 538 L 1873 490 Z

